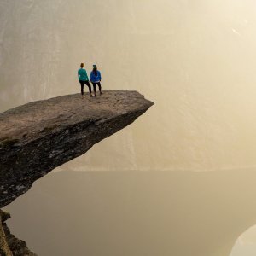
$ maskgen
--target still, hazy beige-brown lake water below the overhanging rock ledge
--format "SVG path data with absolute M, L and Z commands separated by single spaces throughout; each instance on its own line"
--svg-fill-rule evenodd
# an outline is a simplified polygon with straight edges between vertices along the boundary
M 245 252 L 255 236 L 230 252 L 256 223 L 255 178 L 255 170 L 53 172 L 6 208 L 12 231 L 38 255 L 253 256 Z

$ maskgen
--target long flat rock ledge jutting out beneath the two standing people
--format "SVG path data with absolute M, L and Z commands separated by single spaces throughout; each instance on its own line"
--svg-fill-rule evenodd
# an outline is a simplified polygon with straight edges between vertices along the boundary
M 1 113 L 0 207 L 152 105 L 136 91 L 104 90 L 102 96 L 60 96 Z

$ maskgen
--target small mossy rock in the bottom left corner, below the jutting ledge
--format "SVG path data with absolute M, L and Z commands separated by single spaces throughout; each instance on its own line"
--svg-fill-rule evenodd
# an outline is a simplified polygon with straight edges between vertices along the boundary
M 26 247 L 26 241 L 16 238 L 10 233 L 5 223 L 10 218 L 9 212 L 0 210 L 0 255 L 1 256 L 37 256 Z

